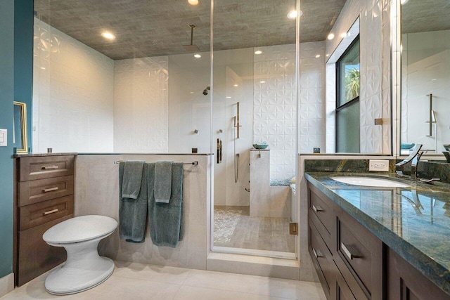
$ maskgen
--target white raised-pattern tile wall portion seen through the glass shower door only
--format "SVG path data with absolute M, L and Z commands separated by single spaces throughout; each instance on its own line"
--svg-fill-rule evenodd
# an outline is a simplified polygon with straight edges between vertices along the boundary
M 254 56 L 253 141 L 269 143 L 270 178 L 283 180 L 295 176 L 295 44 L 257 49 L 262 54 Z

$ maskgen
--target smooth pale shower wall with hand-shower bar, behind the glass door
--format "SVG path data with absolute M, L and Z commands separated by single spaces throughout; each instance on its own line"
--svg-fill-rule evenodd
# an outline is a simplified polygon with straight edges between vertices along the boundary
M 253 52 L 253 48 L 214 52 L 212 142 L 216 145 L 217 138 L 220 138 L 223 147 L 221 163 L 214 162 L 214 205 L 250 204 L 248 189 L 253 140 Z M 239 138 L 236 136 L 237 129 L 233 120 L 237 117 L 238 102 L 241 126 Z M 236 159 L 236 166 L 239 167 L 236 169 L 237 182 L 234 177 L 235 145 L 236 154 L 239 154 L 239 159 Z M 269 164 L 266 167 L 269 171 Z

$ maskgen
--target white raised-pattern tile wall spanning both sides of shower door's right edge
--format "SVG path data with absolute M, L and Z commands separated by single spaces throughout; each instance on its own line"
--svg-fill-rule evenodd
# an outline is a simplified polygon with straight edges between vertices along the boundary
M 295 44 L 258 50 L 262 54 L 254 56 L 253 140 L 269 143 L 270 177 L 282 180 L 295 176 Z M 300 44 L 300 152 L 325 148 L 324 58 L 324 41 Z

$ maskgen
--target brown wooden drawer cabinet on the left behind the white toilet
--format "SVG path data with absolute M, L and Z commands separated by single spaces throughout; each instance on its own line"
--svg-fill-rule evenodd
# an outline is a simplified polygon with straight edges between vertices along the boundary
M 15 158 L 15 285 L 24 285 L 66 259 L 65 249 L 50 246 L 42 235 L 73 217 L 74 165 L 75 155 Z

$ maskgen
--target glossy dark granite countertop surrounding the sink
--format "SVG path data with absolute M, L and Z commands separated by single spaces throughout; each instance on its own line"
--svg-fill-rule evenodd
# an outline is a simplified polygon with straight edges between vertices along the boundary
M 450 184 L 396 174 L 311 172 L 307 181 L 450 295 Z M 390 178 L 409 188 L 349 185 L 332 176 Z

